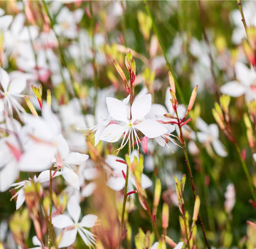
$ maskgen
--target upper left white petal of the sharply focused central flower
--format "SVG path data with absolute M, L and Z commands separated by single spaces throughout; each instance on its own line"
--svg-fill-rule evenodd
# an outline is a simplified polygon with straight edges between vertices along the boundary
M 126 105 L 119 99 L 107 97 L 107 109 L 112 118 L 118 121 L 127 121 L 126 117 Z

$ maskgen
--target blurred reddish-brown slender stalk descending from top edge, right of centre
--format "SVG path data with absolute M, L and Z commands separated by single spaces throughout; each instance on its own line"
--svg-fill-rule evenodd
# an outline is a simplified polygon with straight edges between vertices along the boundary
M 211 62 L 210 69 L 211 69 L 211 74 L 212 74 L 213 81 L 214 81 L 213 82 L 213 91 L 215 92 L 215 98 L 218 101 L 218 99 L 219 99 L 219 90 L 218 90 L 218 85 L 217 85 L 217 82 L 216 82 L 216 76 L 215 76 L 215 73 L 214 73 L 214 63 L 213 63 L 213 58 L 212 58 L 212 53 L 211 53 L 211 45 L 210 45 L 208 36 L 206 34 L 206 31 L 205 31 L 205 12 L 204 12 L 204 8 L 202 6 L 202 0 L 198 0 L 198 4 L 199 4 L 199 9 L 200 9 L 200 17 L 201 17 L 201 22 L 202 22 L 204 39 L 205 39 L 205 42 L 206 42 L 207 47 L 208 47 L 208 56 L 210 57 L 210 62 Z

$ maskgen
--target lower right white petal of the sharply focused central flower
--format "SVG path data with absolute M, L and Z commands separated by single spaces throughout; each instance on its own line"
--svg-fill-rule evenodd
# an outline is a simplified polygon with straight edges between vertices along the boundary
M 167 133 L 167 129 L 163 125 L 152 119 L 146 119 L 134 127 L 148 138 L 156 138 Z

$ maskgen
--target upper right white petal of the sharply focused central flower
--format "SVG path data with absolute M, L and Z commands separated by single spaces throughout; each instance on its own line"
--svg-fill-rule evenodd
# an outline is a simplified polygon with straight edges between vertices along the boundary
M 147 94 L 137 100 L 132 104 L 132 123 L 138 118 L 146 116 L 151 109 L 151 94 Z

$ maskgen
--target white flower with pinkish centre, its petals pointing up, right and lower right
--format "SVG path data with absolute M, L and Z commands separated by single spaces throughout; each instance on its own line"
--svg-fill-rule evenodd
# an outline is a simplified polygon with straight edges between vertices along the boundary
M 61 168 L 63 178 L 74 188 L 80 189 L 79 177 L 75 173 L 71 165 L 80 165 L 85 162 L 89 156 L 78 152 L 69 153 L 69 147 L 66 140 L 60 134 L 57 139 L 57 154 L 53 159 L 53 163 L 57 168 Z

